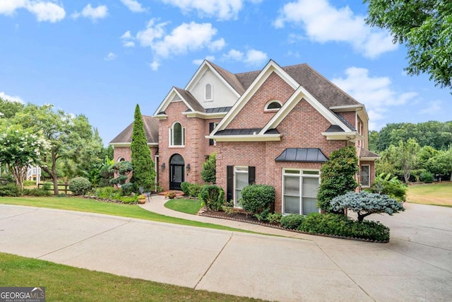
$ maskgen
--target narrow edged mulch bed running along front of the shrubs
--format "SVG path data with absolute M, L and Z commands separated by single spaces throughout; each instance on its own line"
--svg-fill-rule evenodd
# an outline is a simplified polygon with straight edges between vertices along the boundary
M 364 241 L 364 242 L 369 242 L 369 243 L 388 243 L 389 242 L 389 240 L 384 240 L 384 241 L 383 240 L 371 240 L 371 239 L 352 238 L 352 237 L 318 234 L 318 233 L 307 233 L 307 232 L 302 232 L 302 231 L 298 231 L 298 230 L 291 230 L 289 228 L 283 228 L 282 226 L 280 226 L 280 223 L 266 223 L 263 221 L 259 221 L 254 216 L 251 216 L 246 213 L 241 213 L 241 212 L 234 213 L 234 214 L 226 214 L 224 211 L 210 211 L 210 210 L 206 210 L 206 209 L 201 209 L 201 211 L 199 211 L 198 215 L 212 217 L 212 218 L 218 218 L 218 219 L 228 219 L 228 220 L 241 221 L 241 222 L 246 222 L 246 223 L 253 223 L 253 224 L 256 224 L 259 226 L 268 226 L 270 228 L 278 228 L 278 229 L 284 230 L 284 231 L 290 231 L 293 233 L 302 233 L 302 234 L 314 235 L 314 236 Z

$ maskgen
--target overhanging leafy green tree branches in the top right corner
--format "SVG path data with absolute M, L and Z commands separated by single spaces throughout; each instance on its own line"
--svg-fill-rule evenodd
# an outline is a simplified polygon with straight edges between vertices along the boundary
M 441 88 L 452 88 L 452 2 L 364 0 L 369 25 L 388 29 L 408 49 L 410 75 L 426 73 Z

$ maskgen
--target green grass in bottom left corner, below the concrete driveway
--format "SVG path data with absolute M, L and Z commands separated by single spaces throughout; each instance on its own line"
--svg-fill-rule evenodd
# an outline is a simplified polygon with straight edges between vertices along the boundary
M 47 301 L 261 301 L 78 269 L 0 252 L 1 286 L 42 286 Z

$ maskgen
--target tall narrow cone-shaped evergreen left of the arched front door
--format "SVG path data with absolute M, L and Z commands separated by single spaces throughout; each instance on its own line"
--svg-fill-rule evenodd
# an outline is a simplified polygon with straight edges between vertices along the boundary
M 143 117 L 138 104 L 135 108 L 130 149 L 133 165 L 131 182 L 137 189 L 143 187 L 144 192 L 153 191 L 155 189 L 155 163 L 150 154 L 148 140 L 144 132 Z

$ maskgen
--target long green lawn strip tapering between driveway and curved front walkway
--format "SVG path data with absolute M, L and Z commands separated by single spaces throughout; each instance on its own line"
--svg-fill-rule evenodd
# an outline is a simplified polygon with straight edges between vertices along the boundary
M 99 202 L 95 199 L 85 199 L 83 197 L 1 197 L 1 204 L 13 204 L 28 207 L 43 207 L 49 209 L 63 209 L 71 211 L 83 211 L 88 213 L 107 214 L 123 216 L 136 219 L 145 219 L 166 223 L 182 224 L 184 226 L 197 226 L 201 228 L 214 228 L 224 231 L 235 231 L 243 233 L 255 233 L 244 231 L 228 226 L 219 226 L 213 223 L 204 223 L 179 219 L 157 214 L 142 209 L 137 204 L 115 204 L 110 202 Z

